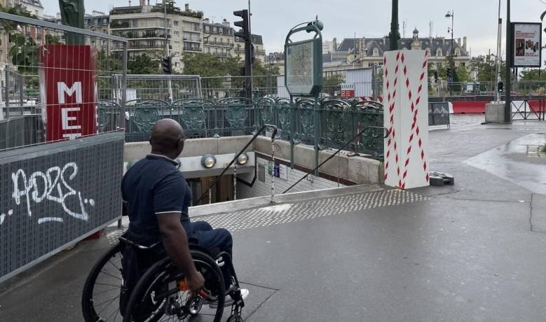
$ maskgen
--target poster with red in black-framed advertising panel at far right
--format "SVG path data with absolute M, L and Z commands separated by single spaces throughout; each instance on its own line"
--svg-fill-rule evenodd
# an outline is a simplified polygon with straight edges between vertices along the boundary
M 542 65 L 542 24 L 540 22 L 512 22 L 512 66 L 540 67 Z

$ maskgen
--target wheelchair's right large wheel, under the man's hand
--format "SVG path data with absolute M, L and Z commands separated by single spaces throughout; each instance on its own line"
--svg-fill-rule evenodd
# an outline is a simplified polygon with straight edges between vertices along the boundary
M 153 265 L 135 286 L 123 322 L 211 321 L 219 322 L 224 313 L 225 285 L 217 263 L 207 254 L 191 251 L 198 272 L 205 278 L 200 295 L 190 297 L 180 286 L 184 274 L 165 258 Z M 217 307 L 209 302 L 217 301 Z

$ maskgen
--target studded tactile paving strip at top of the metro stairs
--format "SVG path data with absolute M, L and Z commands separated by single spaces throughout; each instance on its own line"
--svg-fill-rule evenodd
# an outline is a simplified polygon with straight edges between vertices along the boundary
M 310 202 L 278 204 L 238 211 L 233 214 L 204 216 L 198 220 L 208 221 L 215 228 L 226 228 L 231 232 L 237 232 L 366 209 L 397 206 L 427 199 L 422 195 L 402 190 L 381 190 L 372 193 L 329 197 Z

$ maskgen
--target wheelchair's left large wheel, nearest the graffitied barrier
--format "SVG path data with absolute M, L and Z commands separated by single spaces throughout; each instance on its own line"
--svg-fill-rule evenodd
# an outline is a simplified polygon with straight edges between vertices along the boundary
M 119 294 L 121 289 L 121 246 L 110 248 L 89 272 L 81 297 L 86 322 L 121 322 Z

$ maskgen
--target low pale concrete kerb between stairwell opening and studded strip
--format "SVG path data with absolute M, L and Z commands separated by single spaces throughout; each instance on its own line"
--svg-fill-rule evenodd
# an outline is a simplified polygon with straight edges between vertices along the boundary
M 288 202 L 303 202 L 327 197 L 336 197 L 342 195 L 354 195 L 357 193 L 371 193 L 373 191 L 384 190 L 378 185 L 360 185 L 344 188 L 332 188 L 324 190 L 307 191 L 303 193 L 287 193 L 285 195 L 275 195 L 275 204 L 285 204 Z M 201 206 L 189 207 L 189 216 L 191 218 L 208 216 L 212 214 L 230 214 L 236 211 L 267 207 L 271 204 L 271 196 L 256 197 L 243 200 L 233 200 L 229 202 L 219 202 L 217 204 L 203 204 Z

